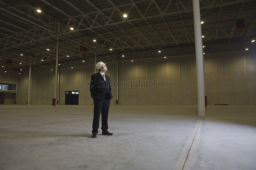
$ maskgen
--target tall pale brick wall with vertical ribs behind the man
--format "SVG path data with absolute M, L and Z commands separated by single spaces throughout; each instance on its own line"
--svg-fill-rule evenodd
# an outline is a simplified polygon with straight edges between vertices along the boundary
M 256 53 L 223 53 L 205 55 L 205 89 L 208 105 L 256 104 Z M 112 86 L 117 80 L 117 62 L 106 64 Z M 151 58 L 119 61 L 119 81 L 141 82 L 141 87 L 119 88 L 120 105 L 196 105 L 197 78 L 195 56 Z M 55 72 L 32 75 L 31 104 L 51 104 Z M 79 104 L 91 105 L 89 86 L 94 66 L 60 70 L 59 104 L 65 104 L 65 91 L 79 90 Z M 143 87 L 147 81 L 171 81 L 171 88 Z M 144 83 L 145 82 L 145 83 Z M 148 83 L 150 86 L 152 83 Z M 18 103 L 27 101 L 28 75 L 19 76 Z M 119 85 L 124 85 L 123 83 Z M 131 87 L 131 82 L 128 83 Z M 135 83 L 133 83 L 135 85 Z M 156 84 L 156 85 L 161 85 Z M 112 87 L 115 104 L 117 87 Z

